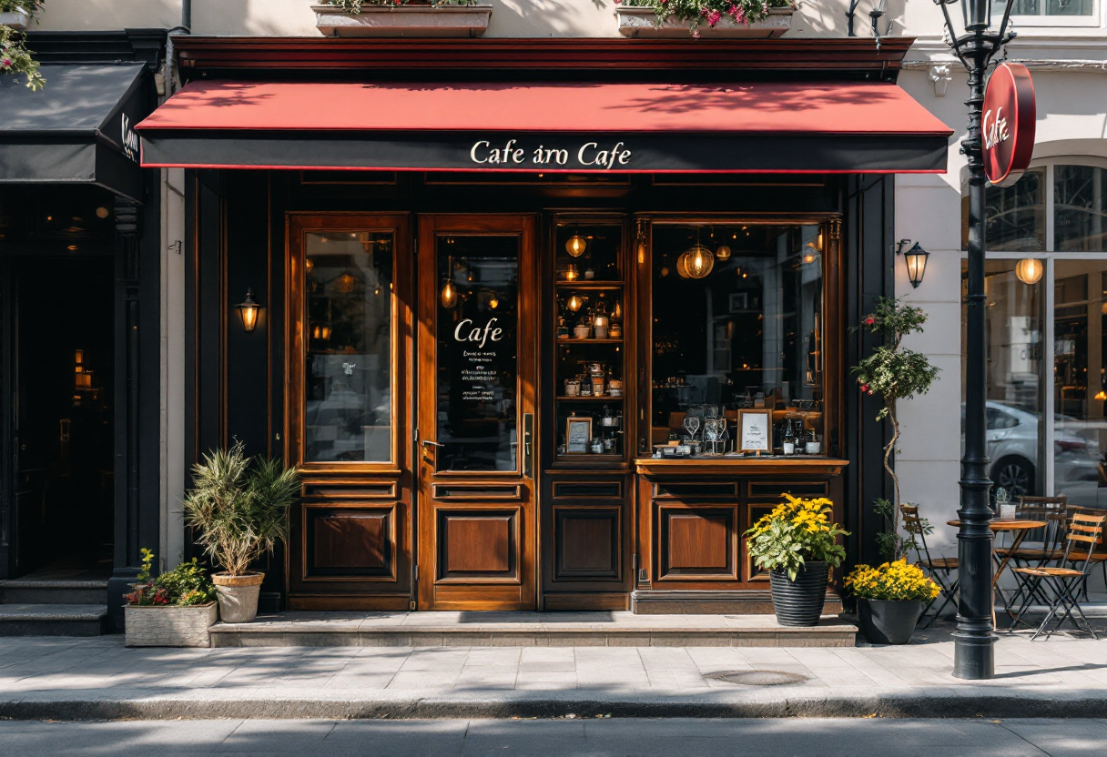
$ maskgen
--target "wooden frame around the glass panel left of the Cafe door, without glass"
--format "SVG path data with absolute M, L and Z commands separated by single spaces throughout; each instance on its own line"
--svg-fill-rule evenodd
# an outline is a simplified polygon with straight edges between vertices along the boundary
M 307 300 L 303 290 L 303 235 L 310 231 L 389 231 L 393 236 L 392 274 L 392 462 L 304 462 Z M 284 459 L 300 470 L 302 501 L 290 518 L 286 591 L 293 610 L 407 610 L 413 601 L 413 478 L 410 432 L 413 417 L 407 388 L 413 385 L 413 297 L 411 217 L 406 212 L 288 212 L 286 215 Z M 373 575 L 309 575 L 307 514 L 372 510 L 387 526 L 390 562 Z

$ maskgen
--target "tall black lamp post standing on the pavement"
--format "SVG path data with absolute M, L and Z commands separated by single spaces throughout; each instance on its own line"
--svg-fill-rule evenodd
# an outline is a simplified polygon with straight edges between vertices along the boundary
M 995 635 L 992 611 L 992 508 L 984 442 L 986 400 L 986 341 L 984 333 L 984 159 L 981 146 L 981 114 L 984 106 L 984 75 L 992 58 L 1015 38 L 1007 31 L 1011 7 L 1006 0 L 1003 23 L 992 31 L 991 0 L 962 0 L 964 33 L 956 35 L 949 4 L 942 7 L 953 52 L 969 72 L 969 133 L 961 152 L 969 158 L 969 294 L 965 336 L 965 444 L 961 458 L 961 530 L 958 533 L 959 573 L 958 630 L 953 633 L 953 676 L 991 678 L 995 675 Z

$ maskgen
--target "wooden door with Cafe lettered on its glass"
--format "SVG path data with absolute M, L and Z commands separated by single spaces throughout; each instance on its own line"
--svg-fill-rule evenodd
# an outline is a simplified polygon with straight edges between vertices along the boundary
M 536 606 L 535 224 L 418 234 L 418 608 Z

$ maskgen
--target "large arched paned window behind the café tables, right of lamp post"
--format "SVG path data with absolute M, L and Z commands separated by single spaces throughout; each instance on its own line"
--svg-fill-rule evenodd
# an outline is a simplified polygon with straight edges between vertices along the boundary
M 996 487 L 1107 508 L 1107 169 L 1096 163 L 987 188 L 986 433 Z

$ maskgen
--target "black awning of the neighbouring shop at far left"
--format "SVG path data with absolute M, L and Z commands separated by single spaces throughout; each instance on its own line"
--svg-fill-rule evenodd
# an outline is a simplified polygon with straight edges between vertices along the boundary
M 151 110 L 145 68 L 43 65 L 38 92 L 0 76 L 0 184 L 97 184 L 142 200 L 133 124 Z

